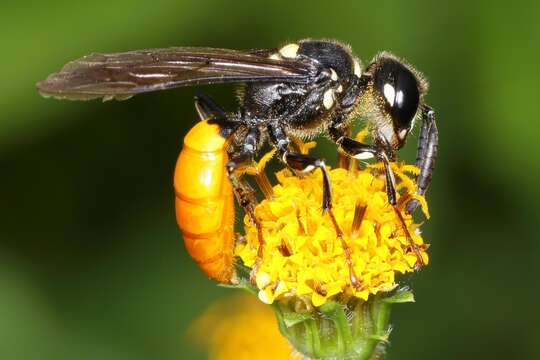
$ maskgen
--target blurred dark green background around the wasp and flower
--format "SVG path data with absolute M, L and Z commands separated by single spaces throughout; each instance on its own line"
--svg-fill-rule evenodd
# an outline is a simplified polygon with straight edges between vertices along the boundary
M 174 219 L 196 89 L 84 103 L 34 84 L 90 52 L 313 37 L 364 63 L 408 59 L 438 111 L 431 264 L 417 303 L 393 312 L 388 358 L 539 359 L 538 14 L 538 1 L 2 4 L 0 358 L 202 359 L 186 328 L 231 293 L 199 273 Z M 230 87 L 204 90 L 234 109 Z

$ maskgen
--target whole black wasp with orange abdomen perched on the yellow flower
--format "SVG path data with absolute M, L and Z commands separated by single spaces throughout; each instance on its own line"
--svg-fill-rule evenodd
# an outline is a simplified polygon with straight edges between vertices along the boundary
M 208 275 L 231 280 L 232 194 L 257 221 L 256 200 L 242 174 L 265 143 L 294 171 L 322 172 L 322 209 L 332 214 L 325 162 L 293 146 L 293 139 L 321 133 L 349 159 L 383 163 L 388 202 L 401 220 L 417 265 L 423 265 L 397 206 L 390 162 L 421 121 L 416 165 L 418 193 L 423 195 L 431 182 L 439 136 L 435 112 L 424 100 L 426 80 L 389 52 L 377 54 L 366 67 L 347 45 L 314 39 L 247 51 L 173 47 L 91 54 L 66 64 L 37 87 L 42 95 L 58 99 L 124 100 L 144 92 L 224 83 L 240 84 L 238 110 L 226 112 L 208 96 L 197 97 L 199 116 L 207 121 L 186 136 L 175 173 L 177 219 L 190 254 Z M 371 144 L 351 138 L 355 118 L 365 119 L 372 129 Z M 268 192 L 268 185 L 261 184 Z M 417 206 L 412 200 L 406 211 L 412 213 Z M 262 254 L 264 239 L 259 240 Z

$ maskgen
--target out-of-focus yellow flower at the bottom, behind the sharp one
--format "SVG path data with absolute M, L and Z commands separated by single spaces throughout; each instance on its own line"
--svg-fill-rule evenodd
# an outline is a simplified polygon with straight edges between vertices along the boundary
M 272 309 L 250 295 L 214 304 L 190 332 L 211 360 L 301 359 L 279 333 Z

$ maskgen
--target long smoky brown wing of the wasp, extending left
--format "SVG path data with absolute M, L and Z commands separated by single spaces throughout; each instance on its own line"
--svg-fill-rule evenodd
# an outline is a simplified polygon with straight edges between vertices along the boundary
M 309 81 L 309 64 L 271 59 L 269 53 L 176 47 L 91 54 L 66 64 L 37 88 L 43 96 L 58 99 L 122 100 L 187 85 Z

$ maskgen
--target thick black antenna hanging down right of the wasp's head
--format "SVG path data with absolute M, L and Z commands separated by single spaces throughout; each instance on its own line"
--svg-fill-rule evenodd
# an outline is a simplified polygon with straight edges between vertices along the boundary
M 422 109 L 422 127 L 418 137 L 418 150 L 416 152 L 416 166 L 420 174 L 416 177 L 418 184 L 417 194 L 424 195 L 433 176 L 433 168 L 437 160 L 439 146 L 439 130 L 435 121 L 435 111 L 425 105 Z M 407 204 L 407 213 L 412 214 L 418 207 L 417 200 L 411 200 Z

